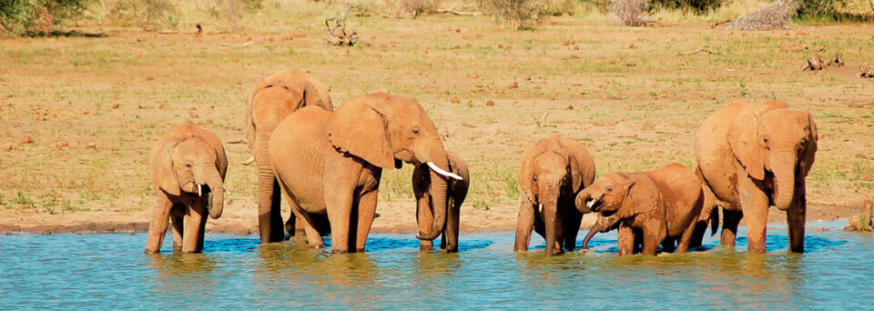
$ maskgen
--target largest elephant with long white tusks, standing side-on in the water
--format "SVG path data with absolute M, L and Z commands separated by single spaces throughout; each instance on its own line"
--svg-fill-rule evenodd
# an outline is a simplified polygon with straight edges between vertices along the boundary
M 279 123 L 269 142 L 270 163 L 311 247 L 323 246 L 311 214 L 330 220 L 331 253 L 363 252 L 376 213 L 382 169 L 404 162 L 428 166 L 434 221 L 420 239 L 446 225 L 449 160 L 437 126 L 415 99 L 373 93 L 329 112 L 303 107 Z M 270 223 L 270 222 L 268 222 Z

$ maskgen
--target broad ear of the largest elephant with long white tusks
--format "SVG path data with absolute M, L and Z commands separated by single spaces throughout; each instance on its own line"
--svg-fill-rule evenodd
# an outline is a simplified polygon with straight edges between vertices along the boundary
M 328 138 L 334 148 L 382 168 L 394 167 L 385 121 L 365 98 L 352 98 L 328 118 Z

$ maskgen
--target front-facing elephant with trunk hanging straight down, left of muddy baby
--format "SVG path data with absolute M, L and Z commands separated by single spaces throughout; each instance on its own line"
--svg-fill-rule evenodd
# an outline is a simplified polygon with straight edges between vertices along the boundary
M 595 160 L 583 145 L 561 135 L 528 147 L 519 166 L 519 216 L 513 251 L 526 252 L 531 231 L 544 236 L 545 255 L 554 249 L 574 250 L 583 214 L 574 196 L 595 181 Z

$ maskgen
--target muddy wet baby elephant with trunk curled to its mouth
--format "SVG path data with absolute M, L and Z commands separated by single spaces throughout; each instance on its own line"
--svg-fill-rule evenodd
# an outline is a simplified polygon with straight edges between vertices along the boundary
M 675 240 L 676 251 L 685 253 L 704 195 L 695 173 L 673 163 L 648 172 L 602 176 L 580 191 L 576 206 L 581 212 L 618 218 L 619 255 L 633 254 L 637 243 L 643 244 L 644 255 L 655 255 L 659 244 L 670 250 Z

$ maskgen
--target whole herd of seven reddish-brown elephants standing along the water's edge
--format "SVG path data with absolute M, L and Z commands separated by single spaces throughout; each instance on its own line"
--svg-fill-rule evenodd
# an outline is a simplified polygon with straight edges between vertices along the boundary
M 331 236 L 331 253 L 363 252 L 376 215 L 382 169 L 415 167 L 412 187 L 420 249 L 458 250 L 460 207 L 471 176 L 447 151 L 437 126 L 416 100 L 374 93 L 336 109 L 328 87 L 300 70 L 259 79 L 246 104 L 246 128 L 258 166 L 260 242 L 305 235 L 311 247 Z M 765 252 L 767 209 L 787 212 L 789 249 L 804 250 L 805 178 L 817 151 L 817 127 L 806 111 L 783 102 L 731 103 L 695 136 L 696 167 L 672 163 L 595 179 L 583 145 L 554 135 L 527 148 L 519 167 L 523 195 L 513 249 L 527 251 L 532 231 L 545 255 L 574 250 L 581 220 L 597 213 L 583 247 L 617 229 L 619 255 L 686 252 L 719 226 L 733 247 L 747 216 L 748 249 Z M 219 137 L 190 122 L 158 140 L 149 158 L 157 192 L 146 253 L 158 253 L 172 220 L 173 250 L 203 248 L 207 214 L 221 216 L 228 160 Z M 291 210 L 282 222 L 280 197 Z

